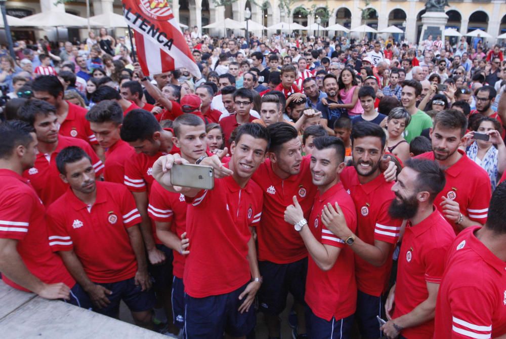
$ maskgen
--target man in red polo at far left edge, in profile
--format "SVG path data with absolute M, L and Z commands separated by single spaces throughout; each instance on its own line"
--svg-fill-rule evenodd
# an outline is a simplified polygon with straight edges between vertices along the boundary
M 49 246 L 46 209 L 21 175 L 37 154 L 35 129 L 12 120 L 0 124 L 0 271 L 14 288 L 47 299 L 70 299 L 75 280 Z M 72 298 L 71 300 L 75 300 Z M 72 301 L 71 301 L 72 302 Z M 77 305 L 76 303 L 72 302 Z

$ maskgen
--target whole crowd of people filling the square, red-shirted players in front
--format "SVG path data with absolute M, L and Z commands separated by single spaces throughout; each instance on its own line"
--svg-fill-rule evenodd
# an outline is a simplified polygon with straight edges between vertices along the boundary
M 5 283 L 189 339 L 506 335 L 499 45 L 184 36 L 200 77 L 105 29 L 2 50 Z

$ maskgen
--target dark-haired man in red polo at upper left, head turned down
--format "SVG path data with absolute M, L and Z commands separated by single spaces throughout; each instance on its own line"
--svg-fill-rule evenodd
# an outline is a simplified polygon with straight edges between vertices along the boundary
M 85 118 L 86 108 L 63 99 L 65 91 L 58 77 L 41 76 L 35 79 L 31 86 L 36 99 L 47 101 L 56 107 L 55 113 L 60 124 L 58 133 L 66 137 L 85 140 L 99 156 L 103 155 L 102 148 L 90 129 L 90 123 Z

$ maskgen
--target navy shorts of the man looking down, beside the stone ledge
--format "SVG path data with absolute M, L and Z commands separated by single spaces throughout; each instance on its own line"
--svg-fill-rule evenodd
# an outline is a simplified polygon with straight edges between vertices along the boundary
M 135 284 L 134 278 L 114 283 L 99 283 L 98 285 L 112 291 L 112 294 L 107 296 L 111 302 L 107 307 L 103 309 L 93 308 L 95 312 L 100 314 L 117 318 L 121 300 L 132 312 L 149 311 L 155 306 L 155 293 L 153 289 L 151 288 L 147 291 L 141 290 L 141 286 Z

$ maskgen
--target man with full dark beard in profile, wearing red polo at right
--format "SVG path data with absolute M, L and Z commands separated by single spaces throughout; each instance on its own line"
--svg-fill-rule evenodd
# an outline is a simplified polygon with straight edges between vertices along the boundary
M 436 162 L 410 159 L 392 186 L 396 198 L 389 213 L 407 219 L 397 282 L 385 304 L 388 322 L 381 330 L 389 338 L 431 338 L 444 260 L 455 234 L 436 209 L 445 174 Z M 393 314 L 392 314 L 393 311 Z

